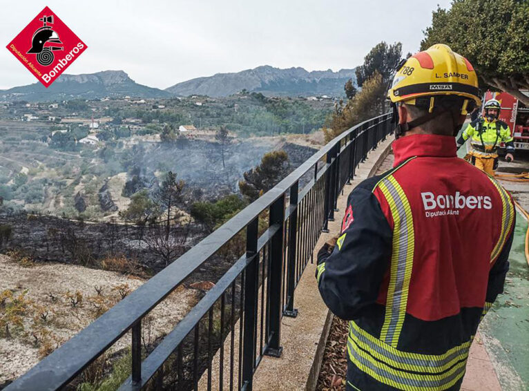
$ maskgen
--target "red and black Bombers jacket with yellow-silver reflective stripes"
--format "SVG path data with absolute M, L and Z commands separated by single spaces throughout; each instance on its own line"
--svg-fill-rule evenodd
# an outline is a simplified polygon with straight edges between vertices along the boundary
M 318 286 L 350 321 L 348 390 L 459 390 L 503 292 L 514 206 L 456 157 L 454 137 L 401 137 L 393 151 L 395 168 L 349 195 L 334 251 L 318 255 Z

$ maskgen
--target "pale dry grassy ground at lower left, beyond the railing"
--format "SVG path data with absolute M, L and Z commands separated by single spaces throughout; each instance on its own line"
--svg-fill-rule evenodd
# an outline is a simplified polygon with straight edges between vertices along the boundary
M 137 287 L 143 278 L 122 272 L 90 269 L 79 265 L 37 263 L 23 266 L 0 255 L 0 383 L 14 379 L 50 354 L 61 343 L 108 311 Z M 180 287 L 150 313 L 148 340 L 170 332 L 200 297 L 196 289 Z M 0 322 L 1 323 L 1 322 Z M 109 354 L 130 345 L 124 336 Z M 97 377 L 97 376 L 96 376 Z

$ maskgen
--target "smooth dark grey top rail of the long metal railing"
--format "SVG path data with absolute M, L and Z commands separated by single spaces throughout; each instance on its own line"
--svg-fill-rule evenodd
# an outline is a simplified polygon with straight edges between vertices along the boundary
M 202 263 L 213 256 L 224 243 L 228 242 L 242 229 L 247 227 L 260 213 L 266 210 L 283 193 L 287 192 L 314 164 L 331 151 L 350 133 L 373 120 L 387 120 L 389 114 L 379 115 L 361 122 L 335 137 L 296 170 L 287 175 L 273 189 L 264 193 L 256 201 L 233 216 L 219 229 L 202 239 L 197 245 L 186 251 L 171 265 L 160 271 L 126 296 L 122 301 L 97 318 L 79 334 L 70 338 L 64 345 L 40 361 L 26 374 L 8 385 L 12 390 L 57 390 L 66 385 L 81 370 L 92 363 L 115 341 L 141 321 L 153 307 L 169 296 Z

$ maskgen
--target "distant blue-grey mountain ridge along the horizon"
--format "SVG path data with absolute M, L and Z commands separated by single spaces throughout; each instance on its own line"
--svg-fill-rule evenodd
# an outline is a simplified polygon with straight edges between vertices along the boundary
M 99 99 L 103 97 L 169 98 L 173 96 L 208 95 L 224 97 L 241 90 L 268 96 L 343 96 L 349 78 L 356 82 L 355 68 L 308 71 L 301 67 L 274 68 L 264 65 L 233 73 L 215 73 L 197 77 L 165 88 L 137 84 L 124 70 L 102 70 L 80 75 L 63 74 L 45 88 L 36 82 L 0 90 L 0 100 L 61 101 Z

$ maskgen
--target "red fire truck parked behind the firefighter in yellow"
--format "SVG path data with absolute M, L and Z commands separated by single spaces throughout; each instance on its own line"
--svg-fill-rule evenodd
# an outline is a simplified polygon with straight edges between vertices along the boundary
M 529 96 L 529 91 L 522 93 Z M 493 98 L 501 104 L 499 119 L 508 124 L 514 137 L 514 148 L 529 150 L 529 108 L 508 93 L 487 91 L 483 102 Z

